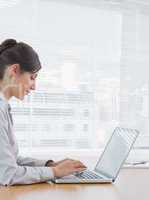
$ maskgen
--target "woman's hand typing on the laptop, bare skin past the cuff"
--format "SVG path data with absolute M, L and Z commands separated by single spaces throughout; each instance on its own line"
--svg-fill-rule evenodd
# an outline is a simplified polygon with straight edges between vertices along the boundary
M 57 162 L 56 166 L 53 166 L 52 169 L 55 177 L 63 177 L 74 172 L 84 171 L 86 166 L 78 160 L 65 159 Z

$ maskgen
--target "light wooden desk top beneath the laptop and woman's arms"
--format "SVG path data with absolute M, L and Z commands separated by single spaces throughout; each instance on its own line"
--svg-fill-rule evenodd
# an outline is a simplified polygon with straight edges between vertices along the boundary
M 0 200 L 146 200 L 149 169 L 122 169 L 114 184 L 34 184 L 0 187 Z

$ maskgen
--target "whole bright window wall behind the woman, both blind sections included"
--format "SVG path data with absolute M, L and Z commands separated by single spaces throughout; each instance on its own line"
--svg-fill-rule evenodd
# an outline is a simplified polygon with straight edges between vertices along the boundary
M 119 123 L 144 127 L 147 135 L 149 30 L 143 3 L 19 0 L 3 5 L 1 39 L 30 43 L 43 65 L 37 90 L 23 102 L 11 101 L 20 148 L 101 148 Z

